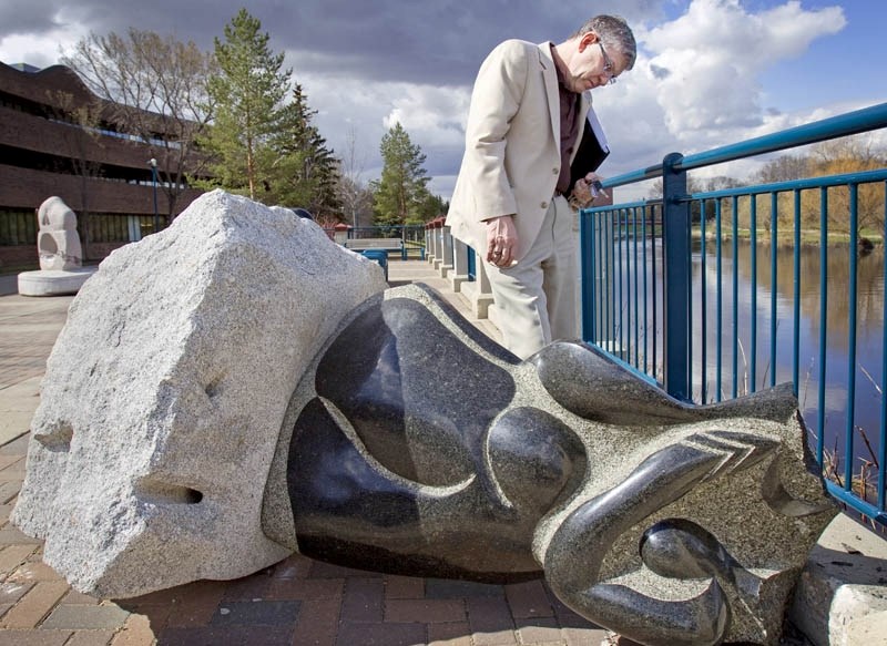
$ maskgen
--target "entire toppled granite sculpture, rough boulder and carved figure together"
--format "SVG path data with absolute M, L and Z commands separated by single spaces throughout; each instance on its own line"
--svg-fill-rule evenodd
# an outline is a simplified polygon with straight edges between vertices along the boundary
M 221 193 L 115 254 L 53 349 L 13 513 L 78 589 L 299 551 L 544 577 L 642 644 L 778 642 L 836 511 L 789 388 L 694 407 L 584 343 L 520 361 L 314 223 Z M 141 293 L 100 297 L 121 280 Z

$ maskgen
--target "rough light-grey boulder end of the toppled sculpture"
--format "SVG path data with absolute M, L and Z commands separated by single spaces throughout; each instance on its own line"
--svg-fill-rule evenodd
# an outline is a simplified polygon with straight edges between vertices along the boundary
M 263 489 L 317 350 L 385 288 L 290 211 L 213 192 L 109 256 L 48 361 L 13 522 L 79 591 L 234 578 L 289 548 Z

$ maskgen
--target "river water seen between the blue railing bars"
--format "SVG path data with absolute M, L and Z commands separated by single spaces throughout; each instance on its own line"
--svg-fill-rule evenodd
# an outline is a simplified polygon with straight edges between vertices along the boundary
M 772 383 L 792 381 L 797 371 L 798 402 L 808 428 L 814 433 L 820 425 L 824 428 L 826 451 L 830 453 L 837 447 L 840 469 L 849 428 L 856 472 L 861 460 L 871 460 L 879 451 L 880 388 L 885 380 L 884 249 L 857 257 L 855 357 L 850 357 L 850 308 L 854 306 L 850 247 L 829 245 L 824 250 L 825 254 L 818 245 L 802 246 L 798 252 L 801 270 L 796 276 L 794 248 L 777 246 L 774 280 L 773 247 L 768 243 L 757 244 L 754 271 L 748 240 L 737 243 L 735 257 L 732 243 L 723 243 L 720 273 L 715 243 L 694 244 L 691 264 L 693 398 L 697 402 L 708 402 L 753 392 Z M 655 267 L 650 262 L 653 255 Z M 634 239 L 629 237 L 613 246 L 611 258 L 610 262 L 599 259 L 598 264 L 601 275 L 598 283 L 600 314 L 595 321 L 598 341 L 621 348 L 624 360 L 661 380 L 661 242 L 648 245 L 646 265 L 642 252 L 634 249 Z M 606 279 L 609 264 L 613 267 L 613 280 Z M 825 291 L 820 283 L 823 266 Z M 635 267 L 646 269 L 635 273 Z M 796 327 L 797 346 L 794 341 Z M 850 401 L 849 392 L 854 387 L 855 397 Z

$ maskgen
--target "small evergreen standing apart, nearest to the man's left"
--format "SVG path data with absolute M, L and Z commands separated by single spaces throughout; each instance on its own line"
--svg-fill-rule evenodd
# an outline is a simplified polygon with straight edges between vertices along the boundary
M 383 171 L 378 182 L 373 183 L 376 224 L 419 224 L 421 206 L 428 196 L 426 185 L 430 177 L 422 164 L 425 155 L 418 145 L 410 142 L 409 134 L 396 123 L 381 137 Z

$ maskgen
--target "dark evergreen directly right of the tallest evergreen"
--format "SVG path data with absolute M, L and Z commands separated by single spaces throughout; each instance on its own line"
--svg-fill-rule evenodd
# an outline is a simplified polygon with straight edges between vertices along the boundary
M 276 204 L 302 206 L 326 221 L 341 212 L 338 160 L 312 124 L 315 114 L 296 83 L 293 102 L 284 107 L 281 130 L 272 140 L 274 161 L 267 183 Z

